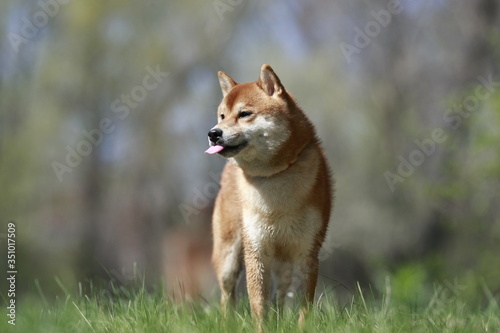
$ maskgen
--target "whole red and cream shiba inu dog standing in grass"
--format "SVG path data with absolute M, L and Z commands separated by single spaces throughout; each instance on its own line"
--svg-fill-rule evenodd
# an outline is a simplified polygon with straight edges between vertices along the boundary
M 274 299 L 301 302 L 302 322 L 314 300 L 318 253 L 333 200 L 332 179 L 315 129 L 269 65 L 251 83 L 219 72 L 223 99 L 208 132 L 208 154 L 227 158 L 213 213 L 212 262 L 221 306 L 234 302 L 246 268 L 252 316 L 259 322 Z

